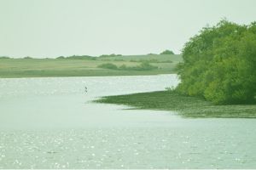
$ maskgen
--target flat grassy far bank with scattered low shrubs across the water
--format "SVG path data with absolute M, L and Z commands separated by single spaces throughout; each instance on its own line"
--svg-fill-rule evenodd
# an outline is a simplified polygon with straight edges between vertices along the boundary
M 31 57 L 13 59 L 3 56 L 0 58 L 0 77 L 96 77 L 170 74 L 175 72 L 175 67 L 181 59 L 181 55 L 111 55 L 108 57 L 73 55 L 60 56 L 57 59 Z

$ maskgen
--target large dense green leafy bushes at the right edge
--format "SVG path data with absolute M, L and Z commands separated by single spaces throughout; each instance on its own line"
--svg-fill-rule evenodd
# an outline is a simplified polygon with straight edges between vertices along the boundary
M 180 94 L 215 104 L 253 102 L 256 93 L 256 24 L 240 26 L 221 20 L 192 37 L 177 66 Z

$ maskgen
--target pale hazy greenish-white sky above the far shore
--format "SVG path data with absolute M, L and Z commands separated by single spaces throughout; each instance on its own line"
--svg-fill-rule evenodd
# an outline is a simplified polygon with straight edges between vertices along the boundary
M 202 27 L 249 24 L 256 0 L 0 0 L 0 56 L 180 54 Z

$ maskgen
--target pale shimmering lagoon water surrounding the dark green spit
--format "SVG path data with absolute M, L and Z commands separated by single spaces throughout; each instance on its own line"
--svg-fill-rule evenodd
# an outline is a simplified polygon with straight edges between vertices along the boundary
M 91 102 L 177 83 L 176 75 L 0 79 L 0 168 L 255 168 L 255 119 Z

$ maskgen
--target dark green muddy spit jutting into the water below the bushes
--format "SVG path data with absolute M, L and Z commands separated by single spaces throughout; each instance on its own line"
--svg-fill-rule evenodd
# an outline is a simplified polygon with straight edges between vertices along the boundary
M 256 105 L 213 105 L 204 99 L 172 91 L 107 96 L 96 102 L 130 105 L 137 109 L 177 111 L 184 117 L 256 118 Z

